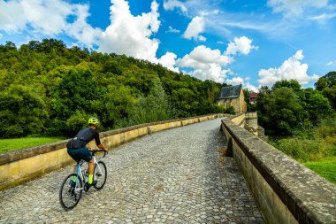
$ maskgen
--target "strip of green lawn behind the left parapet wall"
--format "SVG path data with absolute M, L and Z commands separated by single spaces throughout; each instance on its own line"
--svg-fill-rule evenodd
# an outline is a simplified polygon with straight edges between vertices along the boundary
M 23 138 L 0 139 L 0 153 L 4 153 L 6 151 L 16 151 L 19 149 L 25 149 L 28 147 L 42 145 L 45 143 L 53 143 L 64 139 L 65 138 L 57 138 L 57 137 L 23 137 Z

